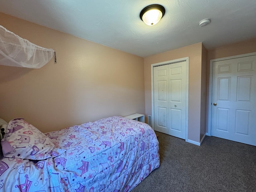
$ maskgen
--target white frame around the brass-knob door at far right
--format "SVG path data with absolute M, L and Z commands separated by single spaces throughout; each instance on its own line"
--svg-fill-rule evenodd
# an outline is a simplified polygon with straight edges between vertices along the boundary
M 256 52 L 210 60 L 210 76 L 209 76 L 209 92 L 208 92 L 208 100 L 209 100 L 208 101 L 208 132 L 206 132 L 207 136 L 212 136 L 212 68 L 213 68 L 213 62 L 229 60 L 229 59 L 236 59 L 236 58 L 241 58 L 241 57 L 248 57 L 248 56 L 253 56 L 253 55 L 256 55 Z

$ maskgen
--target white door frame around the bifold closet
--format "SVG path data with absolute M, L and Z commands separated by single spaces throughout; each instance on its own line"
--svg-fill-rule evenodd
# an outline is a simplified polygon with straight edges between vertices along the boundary
M 169 60 L 169 61 L 164 61 L 160 63 L 155 63 L 151 64 L 151 103 L 152 103 L 152 128 L 154 128 L 154 67 L 156 66 L 161 66 L 161 65 L 168 65 L 168 64 L 174 64 L 174 63 L 179 63 L 179 62 L 186 62 L 186 122 L 185 122 L 185 141 L 188 142 L 188 66 L 189 66 L 189 57 L 184 57 L 184 58 L 179 58 L 179 59 L 174 59 L 174 60 Z

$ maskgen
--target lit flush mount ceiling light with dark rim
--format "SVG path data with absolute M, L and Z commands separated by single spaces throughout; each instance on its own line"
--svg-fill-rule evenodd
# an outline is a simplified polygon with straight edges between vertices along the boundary
M 153 4 L 146 6 L 140 12 L 140 19 L 147 25 L 155 25 L 164 16 L 165 9 L 162 5 Z

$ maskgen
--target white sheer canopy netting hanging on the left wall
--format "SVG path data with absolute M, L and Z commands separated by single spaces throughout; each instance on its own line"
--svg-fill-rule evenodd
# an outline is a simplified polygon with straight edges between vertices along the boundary
M 54 56 L 54 50 L 35 45 L 0 25 L 0 64 L 41 68 Z

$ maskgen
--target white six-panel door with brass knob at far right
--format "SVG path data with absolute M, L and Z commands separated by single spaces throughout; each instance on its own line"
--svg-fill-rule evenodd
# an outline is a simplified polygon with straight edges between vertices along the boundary
M 212 67 L 212 136 L 256 146 L 256 56 Z

